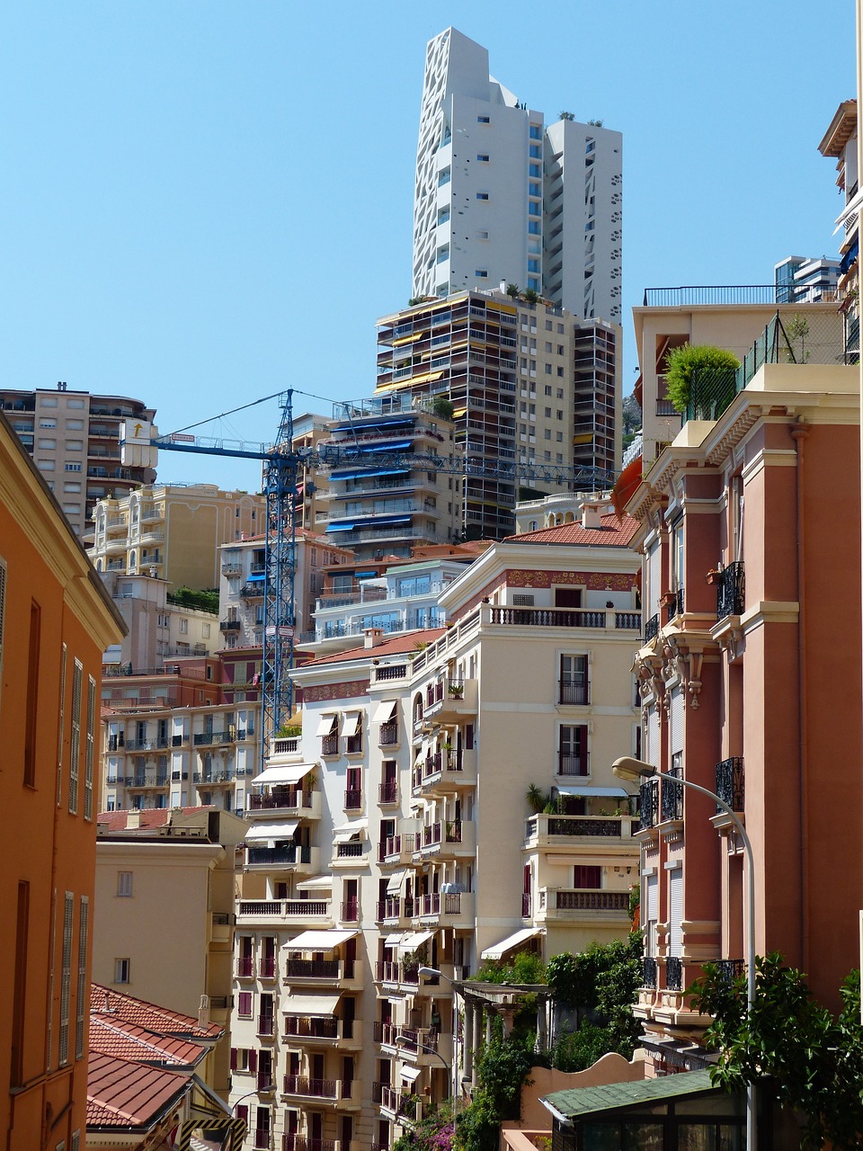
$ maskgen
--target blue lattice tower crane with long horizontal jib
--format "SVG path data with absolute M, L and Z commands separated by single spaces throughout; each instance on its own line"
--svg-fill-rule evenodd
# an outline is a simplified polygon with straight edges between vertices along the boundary
M 264 578 L 264 637 L 261 662 L 261 761 L 269 752 L 272 739 L 293 709 L 295 642 L 295 571 L 296 520 L 298 494 L 297 478 L 304 470 L 327 471 L 339 464 L 356 464 L 361 448 L 356 441 L 338 444 L 319 444 L 316 448 L 293 448 L 293 395 L 308 395 L 287 389 L 255 399 L 251 407 L 268 399 L 278 399 L 282 414 L 273 445 L 240 440 L 204 437 L 188 434 L 188 429 L 170 435 L 154 435 L 148 447 L 161 451 L 185 451 L 206 456 L 230 456 L 237 459 L 264 462 L 264 495 L 267 500 Z M 314 397 L 319 398 L 319 397 Z M 344 405 L 350 419 L 350 405 Z M 230 416 L 240 409 L 231 409 Z M 212 417 L 220 419 L 221 417 Z M 203 422 L 209 422 L 203 421 Z M 129 432 L 127 430 L 127 436 Z M 131 441 L 133 442 L 133 441 Z M 138 441 L 139 442 L 139 441 Z M 377 451 L 375 466 L 392 464 L 396 467 L 423 467 L 465 479 L 504 480 L 518 485 L 522 480 L 553 485 L 571 485 L 574 490 L 596 491 L 609 488 L 614 474 L 596 467 L 570 467 L 550 464 L 525 464 L 514 460 L 488 459 L 466 455 L 442 456 L 436 452 L 413 450 Z

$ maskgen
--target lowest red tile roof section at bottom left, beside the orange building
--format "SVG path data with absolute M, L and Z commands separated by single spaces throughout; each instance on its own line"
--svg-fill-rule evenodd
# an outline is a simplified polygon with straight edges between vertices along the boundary
M 188 1075 L 91 1051 L 87 1127 L 148 1130 L 190 1087 Z

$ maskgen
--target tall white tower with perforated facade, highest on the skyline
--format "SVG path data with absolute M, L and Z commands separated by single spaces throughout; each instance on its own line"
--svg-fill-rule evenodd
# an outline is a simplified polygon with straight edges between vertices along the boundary
M 502 282 L 620 320 L 623 137 L 519 104 L 488 51 L 448 28 L 426 51 L 413 294 Z

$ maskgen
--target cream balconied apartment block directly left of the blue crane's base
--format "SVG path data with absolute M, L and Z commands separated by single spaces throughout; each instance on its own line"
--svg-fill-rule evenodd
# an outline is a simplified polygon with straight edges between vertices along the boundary
M 162 691 L 178 686 L 169 671 L 152 678 Z M 105 707 L 102 729 L 104 811 L 215 806 L 243 814 L 246 777 L 260 767 L 259 703 L 138 700 Z

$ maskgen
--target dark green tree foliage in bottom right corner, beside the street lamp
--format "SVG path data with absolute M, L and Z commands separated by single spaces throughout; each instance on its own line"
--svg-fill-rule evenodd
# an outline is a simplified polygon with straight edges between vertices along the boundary
M 719 1050 L 715 1083 L 742 1090 L 769 1076 L 779 1102 L 805 1116 L 803 1148 L 863 1145 L 858 970 L 842 984 L 837 1016 L 812 999 L 804 976 L 777 952 L 756 960 L 751 1011 L 746 976 L 728 980 L 712 963 L 689 991 L 694 1008 L 715 1020 L 704 1035 Z

